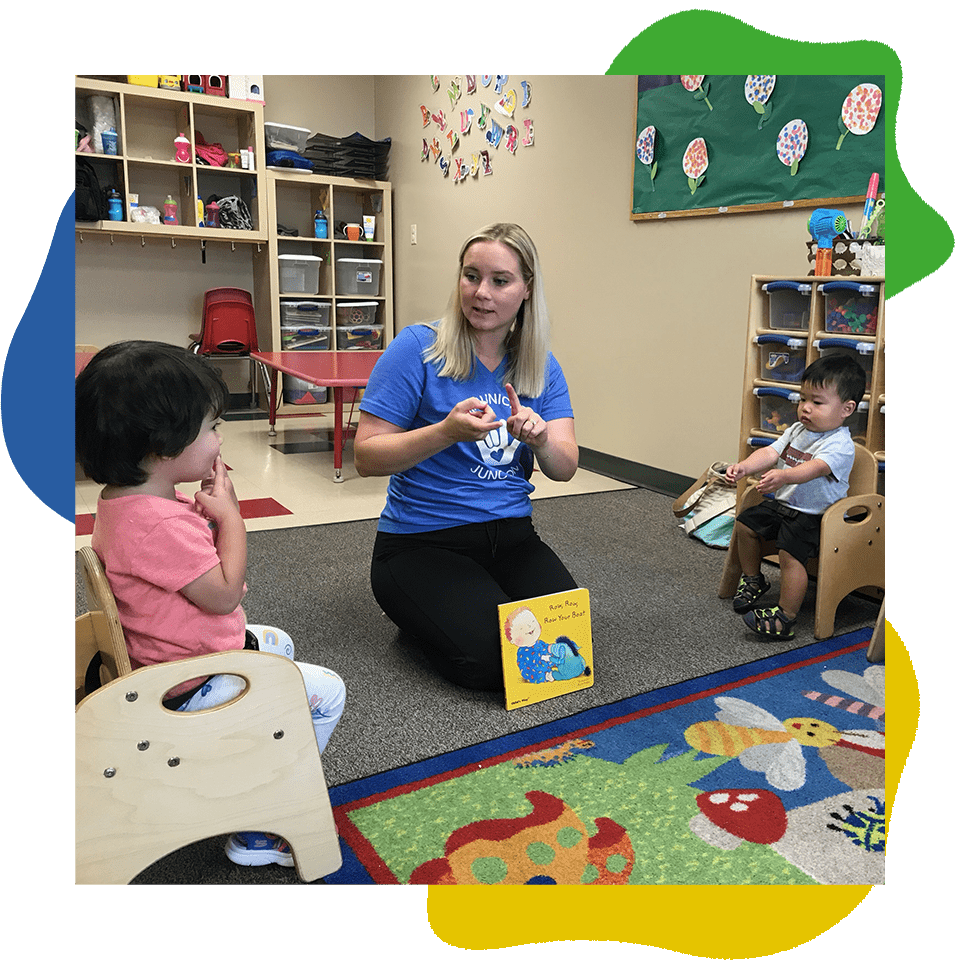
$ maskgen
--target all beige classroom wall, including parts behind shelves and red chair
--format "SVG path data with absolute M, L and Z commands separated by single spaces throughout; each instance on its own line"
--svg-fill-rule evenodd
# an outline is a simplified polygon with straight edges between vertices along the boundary
M 690 477 L 736 456 L 750 276 L 806 274 L 809 209 L 631 221 L 632 77 L 515 76 L 531 85 L 517 116 L 534 119 L 534 145 L 511 156 L 501 144 L 491 176 L 454 184 L 420 159 L 423 137 L 437 131 L 423 127 L 421 104 L 443 106 L 459 130 L 467 97 L 451 109 L 449 80 L 434 93 L 426 75 L 264 77 L 267 120 L 391 138 L 397 327 L 442 311 L 467 234 L 513 220 L 540 252 L 580 444 Z M 461 140 L 458 154 L 477 149 L 476 128 Z M 77 242 L 77 340 L 186 345 L 203 290 L 252 287 L 250 263 L 241 244 L 208 244 L 203 264 L 195 243 L 111 246 L 86 235 Z M 231 385 L 245 383 L 247 365 L 233 364 Z

